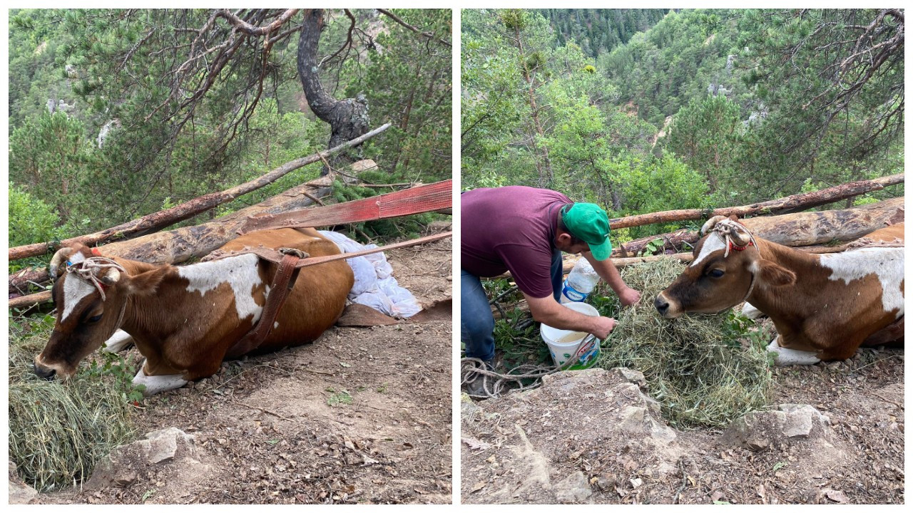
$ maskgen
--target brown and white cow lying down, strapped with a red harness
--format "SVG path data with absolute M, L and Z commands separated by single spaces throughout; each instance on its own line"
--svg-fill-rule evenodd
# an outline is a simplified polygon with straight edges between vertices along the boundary
M 260 245 L 294 247 L 311 257 L 340 253 L 311 228 L 256 232 L 222 249 Z M 57 322 L 35 359 L 35 372 L 66 379 L 106 340 L 122 344 L 112 335 L 123 330 L 146 358 L 133 382 L 144 384 L 147 395 L 210 376 L 259 319 L 277 267 L 252 254 L 175 267 L 105 258 L 82 245 L 64 247 L 51 262 L 58 277 Z M 256 352 L 316 340 L 339 319 L 352 282 L 352 268 L 343 260 L 302 267 Z

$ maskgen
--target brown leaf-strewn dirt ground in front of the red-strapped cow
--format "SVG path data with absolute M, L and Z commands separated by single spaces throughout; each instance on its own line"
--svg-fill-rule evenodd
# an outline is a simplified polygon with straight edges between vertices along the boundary
M 387 254 L 427 307 L 451 297 L 451 241 Z M 334 327 L 314 343 L 226 362 L 148 399 L 140 434 L 194 436 L 193 465 L 40 503 L 449 503 L 451 319 Z M 135 351 L 135 350 L 131 350 Z

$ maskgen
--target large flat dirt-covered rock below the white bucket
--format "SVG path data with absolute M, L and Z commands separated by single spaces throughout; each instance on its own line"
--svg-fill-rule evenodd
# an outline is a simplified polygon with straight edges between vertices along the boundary
M 630 487 L 615 474 L 675 475 L 677 434 L 642 387 L 641 372 L 595 368 L 556 372 L 528 392 L 464 399 L 464 501 L 604 502 Z

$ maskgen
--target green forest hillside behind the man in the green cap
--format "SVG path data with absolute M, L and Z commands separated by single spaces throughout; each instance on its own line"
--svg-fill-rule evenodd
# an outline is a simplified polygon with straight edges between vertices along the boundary
M 901 173 L 903 19 L 891 9 L 465 11 L 462 185 L 548 187 L 622 216 Z

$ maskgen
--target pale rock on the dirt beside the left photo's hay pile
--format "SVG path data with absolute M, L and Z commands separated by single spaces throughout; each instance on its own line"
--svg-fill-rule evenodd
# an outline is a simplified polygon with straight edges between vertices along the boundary
M 180 460 L 182 466 L 202 465 L 194 459 L 194 436 L 176 427 L 147 433 L 142 440 L 121 445 L 95 466 L 85 487 L 126 487 L 150 468 Z

